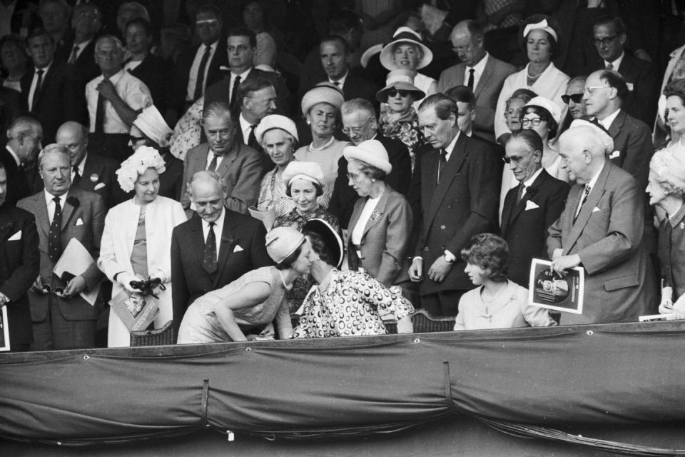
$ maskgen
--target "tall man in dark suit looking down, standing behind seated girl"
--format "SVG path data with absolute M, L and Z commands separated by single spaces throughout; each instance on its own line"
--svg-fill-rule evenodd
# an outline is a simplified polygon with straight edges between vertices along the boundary
M 426 97 L 418 115 L 435 151 L 421 159 L 421 220 L 409 277 L 421 283 L 422 308 L 456 316 L 459 298 L 472 288 L 461 250 L 472 236 L 497 230 L 501 166 L 491 149 L 460 133 L 449 97 Z

